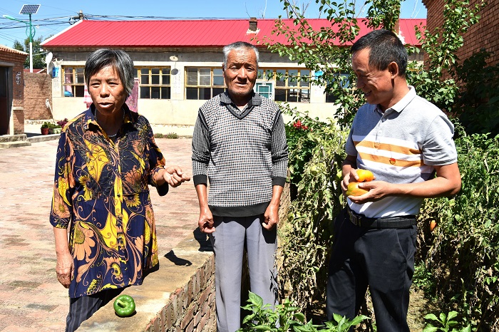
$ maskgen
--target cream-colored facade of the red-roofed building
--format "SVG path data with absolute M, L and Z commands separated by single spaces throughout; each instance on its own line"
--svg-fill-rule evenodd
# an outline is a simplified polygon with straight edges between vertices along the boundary
M 139 96 L 138 113 L 148 118 L 151 125 L 153 125 L 155 133 L 192 135 L 197 111 L 206 100 L 192 100 L 187 98 L 187 88 L 189 86 L 187 83 L 187 71 L 192 68 L 210 68 L 210 76 L 215 76 L 213 70 L 218 68 L 221 71 L 222 69 L 222 50 L 217 52 L 197 51 L 185 53 L 180 53 L 180 51 L 154 53 L 135 52 L 133 50 L 125 51 L 132 57 L 135 68 L 170 69 L 170 82 L 168 85 L 168 88 L 170 88 L 170 98 L 140 98 Z M 68 70 L 83 70 L 85 59 L 89 53 L 90 51 L 78 53 L 58 51 L 57 58 L 53 58 L 51 66 L 48 68 L 48 72 L 53 73 L 52 110 L 56 120 L 73 118 L 83 112 L 83 110 L 86 110 L 83 95 L 78 96 L 78 93 L 74 93 L 71 96 L 65 95 L 65 87 L 67 86 L 65 81 L 69 76 Z M 264 71 L 299 71 L 300 73 L 304 71 L 304 73 L 314 75 L 313 71 L 307 71 L 307 68 L 304 66 L 299 66 L 297 63 L 284 62 L 276 54 L 264 51 L 260 51 L 259 68 Z M 82 80 L 83 72 L 81 72 L 81 76 L 74 78 L 73 81 L 76 82 L 72 83 L 83 87 Z M 274 83 L 273 86 L 272 83 Z M 275 93 L 275 89 L 277 88 L 275 83 L 274 80 L 259 78 L 257 86 L 261 84 L 270 85 L 269 88 L 273 88 Z M 139 85 L 141 84 L 139 83 Z M 213 87 L 214 85 L 210 84 L 209 86 Z M 290 87 L 284 90 L 290 90 Z M 309 84 L 305 89 L 297 87 L 291 90 L 308 90 L 307 94 L 309 95 L 308 98 L 300 98 L 301 101 L 290 101 L 289 105 L 292 108 L 297 108 L 301 112 L 309 112 L 309 115 L 314 118 L 318 117 L 321 120 L 326 120 L 334 115 L 335 106 L 332 103 L 326 103 L 324 87 Z M 291 119 L 286 118 L 285 120 Z

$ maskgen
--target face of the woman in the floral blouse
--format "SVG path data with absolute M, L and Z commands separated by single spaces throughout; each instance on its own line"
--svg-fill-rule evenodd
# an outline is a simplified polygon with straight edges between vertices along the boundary
M 99 113 L 108 116 L 120 112 L 126 93 L 114 66 L 102 68 L 90 78 L 89 84 L 88 93 Z

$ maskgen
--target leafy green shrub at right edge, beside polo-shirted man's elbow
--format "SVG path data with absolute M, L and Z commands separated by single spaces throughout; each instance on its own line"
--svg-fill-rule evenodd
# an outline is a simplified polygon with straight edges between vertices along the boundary
M 421 224 L 437 227 L 420 232 L 421 254 L 444 306 L 461 308 L 478 331 L 499 331 L 499 135 L 457 128 L 461 192 L 426 200 Z

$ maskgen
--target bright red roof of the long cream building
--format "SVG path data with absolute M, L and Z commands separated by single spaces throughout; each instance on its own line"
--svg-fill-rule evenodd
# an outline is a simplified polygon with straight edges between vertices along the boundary
M 363 36 L 370 28 L 359 19 Z M 284 19 L 292 26 L 293 21 Z M 326 19 L 307 19 L 314 29 L 331 26 Z M 401 19 L 401 34 L 408 44 L 418 45 L 414 26 L 426 25 L 426 19 Z M 275 19 L 259 19 L 257 36 L 287 43 L 283 35 L 272 35 Z M 43 47 L 222 47 L 234 41 L 252 41 L 245 19 L 168 20 L 168 21 L 78 21 L 42 43 Z M 337 44 L 338 42 L 335 41 Z

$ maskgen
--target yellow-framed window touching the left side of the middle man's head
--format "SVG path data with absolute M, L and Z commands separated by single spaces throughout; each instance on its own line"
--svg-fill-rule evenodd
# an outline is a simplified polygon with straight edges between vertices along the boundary
M 225 91 L 222 68 L 185 68 L 185 98 L 208 100 Z

